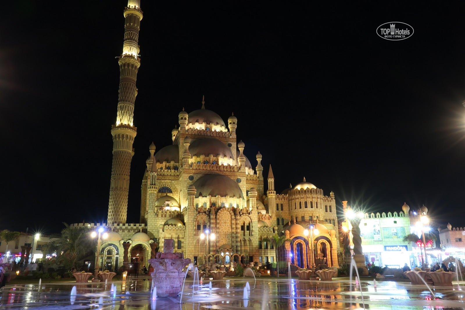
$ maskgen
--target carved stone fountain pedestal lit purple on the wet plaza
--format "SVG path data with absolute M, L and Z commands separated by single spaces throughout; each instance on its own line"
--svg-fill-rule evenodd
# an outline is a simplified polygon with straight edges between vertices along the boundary
M 191 263 L 190 258 L 184 258 L 183 253 L 173 253 L 174 240 L 165 239 L 163 253 L 157 252 L 156 258 L 148 262 L 153 267 L 153 286 L 157 288 L 159 297 L 176 297 L 181 291 L 185 273 L 182 271 Z

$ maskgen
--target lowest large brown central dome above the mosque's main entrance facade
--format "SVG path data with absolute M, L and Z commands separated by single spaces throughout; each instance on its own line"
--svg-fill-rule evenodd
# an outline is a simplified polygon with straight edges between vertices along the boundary
M 237 182 L 222 174 L 208 174 L 199 178 L 193 185 L 197 190 L 195 194 L 196 198 L 198 198 L 200 194 L 202 194 L 203 197 L 208 195 L 212 195 L 212 197 L 216 195 L 225 197 L 229 195 L 229 197 L 236 196 L 237 198 L 244 198 Z

